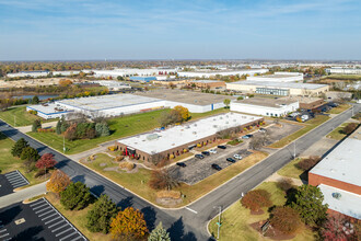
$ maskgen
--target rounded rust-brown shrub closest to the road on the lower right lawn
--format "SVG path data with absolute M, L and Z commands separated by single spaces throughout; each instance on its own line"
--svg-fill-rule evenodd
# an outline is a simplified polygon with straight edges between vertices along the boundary
M 253 211 L 257 211 L 261 207 L 270 207 L 272 205 L 270 202 L 270 194 L 266 190 L 254 190 L 248 192 L 241 199 L 241 204 Z

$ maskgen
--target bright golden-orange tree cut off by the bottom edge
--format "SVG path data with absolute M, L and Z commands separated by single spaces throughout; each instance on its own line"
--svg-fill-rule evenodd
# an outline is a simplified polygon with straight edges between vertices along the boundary
M 110 222 L 110 233 L 115 240 L 137 240 L 148 233 L 144 216 L 141 211 L 127 207 L 119 211 Z

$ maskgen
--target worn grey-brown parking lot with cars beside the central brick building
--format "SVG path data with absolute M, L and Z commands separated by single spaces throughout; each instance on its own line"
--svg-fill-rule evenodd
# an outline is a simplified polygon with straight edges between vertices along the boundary
M 271 145 L 291 135 L 292 133 L 301 129 L 302 125 L 294 125 L 290 123 L 281 123 L 282 126 L 270 125 L 267 129 L 267 135 L 269 135 L 269 141 L 267 145 Z M 253 133 L 254 137 L 257 138 L 259 135 L 264 135 L 263 133 L 255 131 Z M 214 148 L 217 153 L 211 153 L 210 156 L 205 156 L 203 159 L 191 158 L 187 161 L 184 161 L 186 164 L 185 168 L 178 165 L 172 165 L 168 171 L 171 175 L 176 179 L 178 182 L 184 182 L 186 184 L 193 185 L 196 184 L 203 179 L 217 173 L 218 171 L 212 169 L 212 164 L 218 164 L 220 168 L 225 169 L 229 165 L 233 164 L 232 162 L 226 161 L 226 158 L 233 158 L 234 154 L 241 154 L 242 159 L 252 154 L 248 150 L 248 142 L 251 139 L 243 139 L 243 142 L 237 146 L 226 145 L 226 149 Z M 242 161 L 233 158 L 236 162 Z

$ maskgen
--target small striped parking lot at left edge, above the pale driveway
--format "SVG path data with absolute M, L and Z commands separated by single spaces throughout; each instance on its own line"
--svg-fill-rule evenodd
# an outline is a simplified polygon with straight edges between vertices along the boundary
M 13 193 L 13 190 L 25 186 L 28 181 L 18 170 L 0 175 L 0 196 Z

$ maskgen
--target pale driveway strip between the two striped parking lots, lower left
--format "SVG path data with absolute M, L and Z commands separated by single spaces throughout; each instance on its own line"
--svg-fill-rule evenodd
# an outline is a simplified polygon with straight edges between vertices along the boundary
M 30 186 L 22 191 L 0 197 L 0 208 L 7 207 L 12 204 L 23 202 L 27 198 L 35 197 L 35 196 L 46 193 L 45 185 L 46 185 L 46 182 L 34 185 L 34 186 Z

